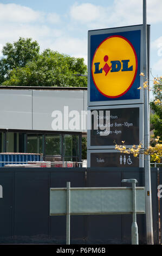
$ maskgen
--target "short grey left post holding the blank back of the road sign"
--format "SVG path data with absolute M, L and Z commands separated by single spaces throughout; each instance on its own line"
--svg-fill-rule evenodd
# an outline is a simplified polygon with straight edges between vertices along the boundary
M 70 245 L 70 182 L 67 182 L 66 244 Z

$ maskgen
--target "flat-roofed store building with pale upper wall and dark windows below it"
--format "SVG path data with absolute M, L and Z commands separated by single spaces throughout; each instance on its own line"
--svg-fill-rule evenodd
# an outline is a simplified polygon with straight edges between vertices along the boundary
M 62 161 L 81 161 L 87 88 L 0 87 L 0 106 L 0 153 L 43 153 L 44 159 L 61 155 Z M 58 113 L 62 127 L 57 126 Z M 73 127 L 65 119 L 73 119 Z

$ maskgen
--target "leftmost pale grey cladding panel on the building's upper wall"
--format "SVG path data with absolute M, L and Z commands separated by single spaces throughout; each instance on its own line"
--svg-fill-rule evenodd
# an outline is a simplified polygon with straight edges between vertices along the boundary
M 0 129 L 32 129 L 31 90 L 0 90 Z

